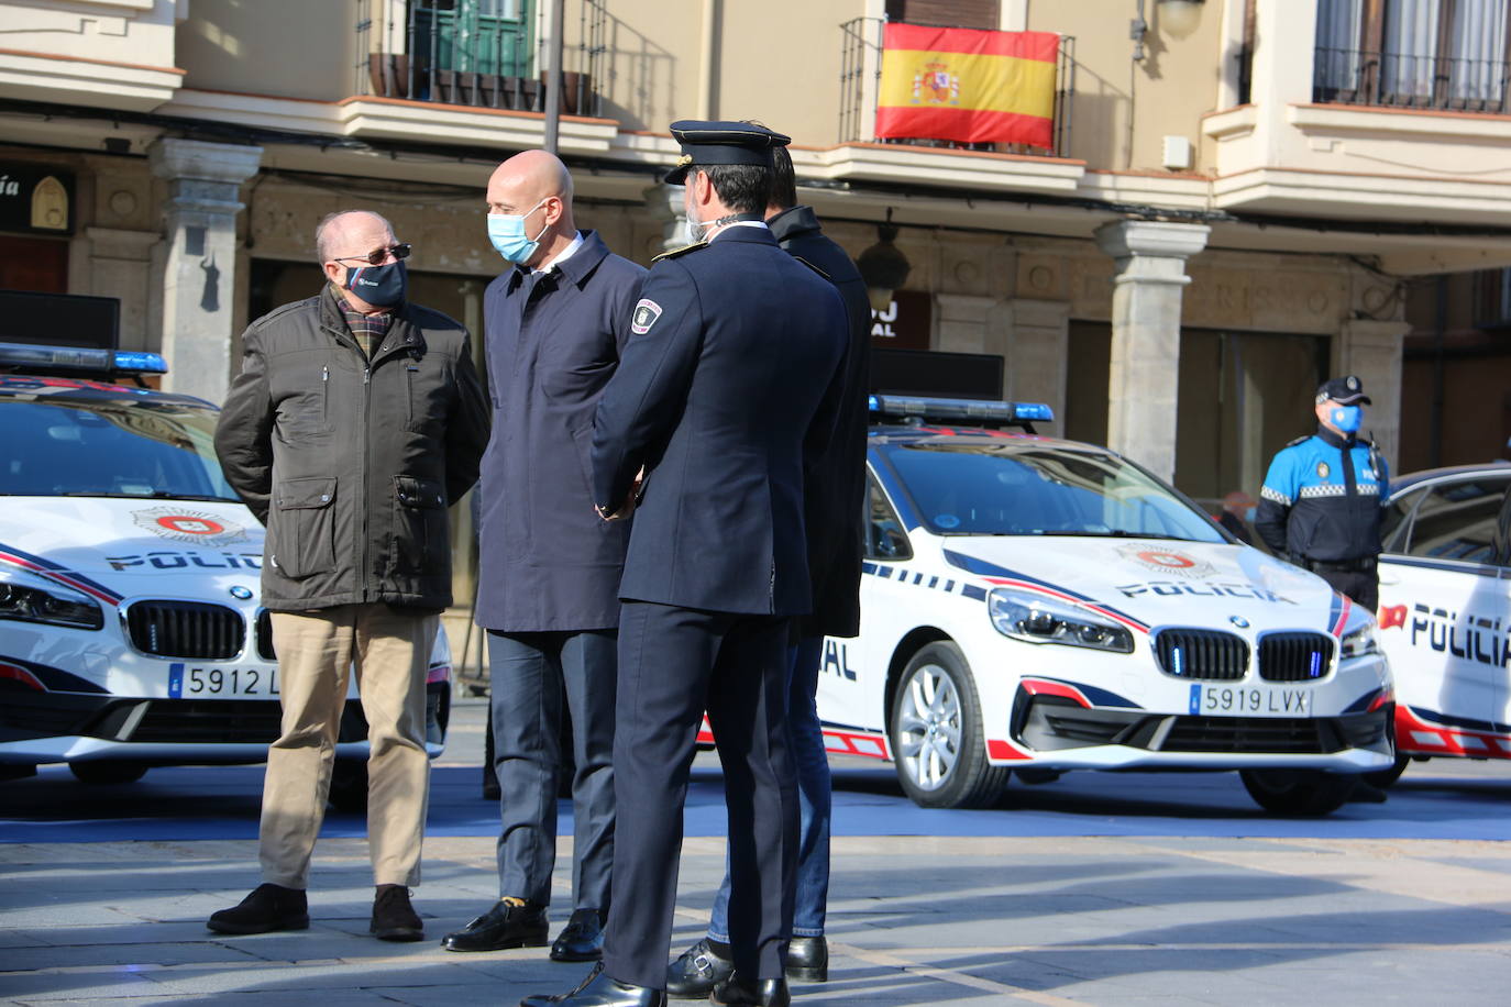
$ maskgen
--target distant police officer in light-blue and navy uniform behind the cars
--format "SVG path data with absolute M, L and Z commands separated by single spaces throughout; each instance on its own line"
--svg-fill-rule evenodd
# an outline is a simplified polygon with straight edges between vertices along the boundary
M 1352 374 L 1318 388 L 1318 432 L 1292 441 L 1269 463 L 1254 530 L 1275 556 L 1373 611 L 1387 473 L 1375 445 L 1358 436 L 1366 405 L 1369 396 Z

